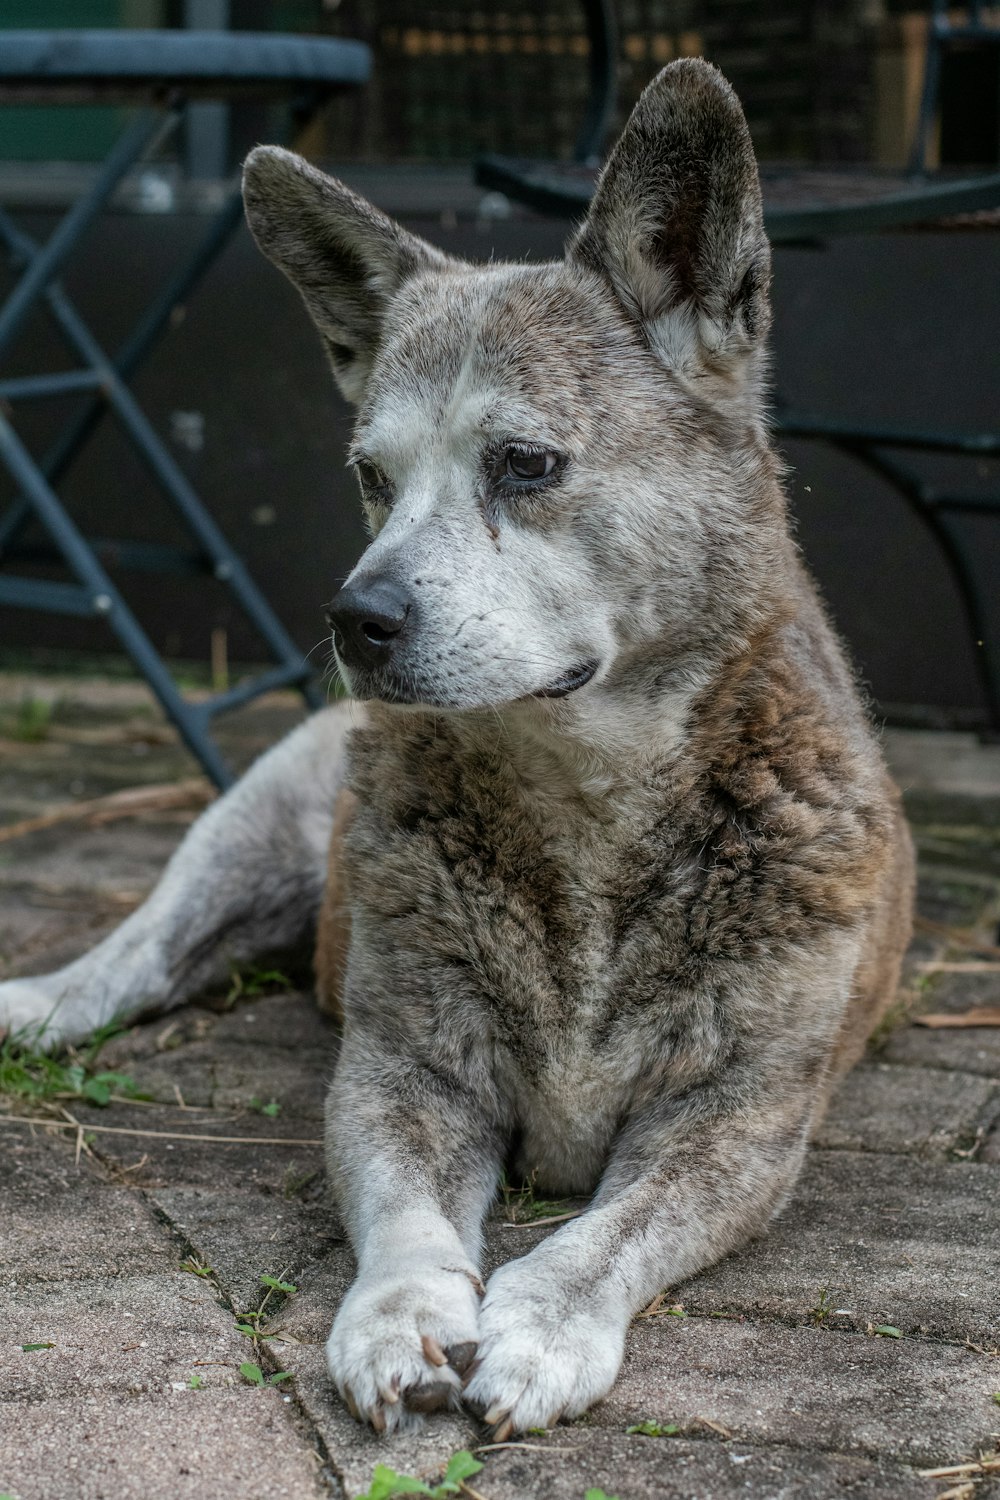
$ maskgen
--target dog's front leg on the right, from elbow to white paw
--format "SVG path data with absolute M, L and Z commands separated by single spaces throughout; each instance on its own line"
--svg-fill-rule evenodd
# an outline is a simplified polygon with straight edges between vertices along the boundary
M 466 1398 L 495 1440 L 607 1395 L 636 1312 L 759 1233 L 784 1202 L 805 1148 L 805 1094 L 742 1116 L 706 1096 L 703 1110 L 687 1128 L 679 1116 L 700 1113 L 691 1096 L 634 1118 L 586 1212 L 490 1276 Z

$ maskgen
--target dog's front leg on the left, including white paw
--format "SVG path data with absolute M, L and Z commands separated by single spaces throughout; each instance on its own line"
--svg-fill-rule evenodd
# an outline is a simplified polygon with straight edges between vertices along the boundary
M 327 1360 L 349 1410 L 376 1431 L 459 1402 L 478 1341 L 481 1224 L 501 1137 L 471 1080 L 424 1068 L 348 1020 L 328 1161 L 358 1275 Z

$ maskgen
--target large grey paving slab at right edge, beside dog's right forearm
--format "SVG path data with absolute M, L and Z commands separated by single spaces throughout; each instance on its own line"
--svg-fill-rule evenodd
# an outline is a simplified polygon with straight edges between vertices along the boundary
M 771 1233 L 676 1287 L 699 1312 L 768 1314 L 996 1344 L 1000 1170 L 813 1152 Z M 840 1311 L 846 1310 L 846 1311 Z

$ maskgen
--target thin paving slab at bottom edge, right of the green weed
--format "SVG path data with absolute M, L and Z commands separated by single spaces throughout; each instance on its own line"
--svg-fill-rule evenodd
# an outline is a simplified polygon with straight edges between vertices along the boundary
M 472 1484 L 490 1500 L 580 1500 L 597 1486 L 621 1500 L 934 1500 L 943 1488 L 885 1461 L 579 1428 L 481 1456 Z

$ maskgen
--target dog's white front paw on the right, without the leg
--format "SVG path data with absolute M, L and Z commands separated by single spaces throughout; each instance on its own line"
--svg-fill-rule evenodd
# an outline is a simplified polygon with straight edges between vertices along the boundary
M 465 1396 L 495 1442 L 580 1416 L 607 1395 L 625 1348 L 628 1317 L 613 1299 L 574 1288 L 558 1264 L 534 1258 L 501 1266 L 480 1312 L 480 1358 Z

